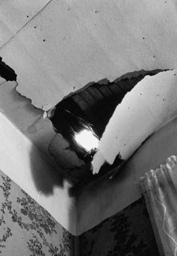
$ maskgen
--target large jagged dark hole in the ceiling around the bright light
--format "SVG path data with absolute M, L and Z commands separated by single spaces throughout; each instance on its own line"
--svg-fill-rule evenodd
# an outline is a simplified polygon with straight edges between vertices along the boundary
M 77 132 L 81 132 L 84 128 L 88 130 L 87 126 L 90 126 L 93 133 L 100 139 L 115 108 L 121 103 L 125 94 L 131 91 L 146 75 L 153 76 L 161 71 L 147 72 L 143 70 L 142 72 L 141 70 L 129 73 L 127 76 L 129 78 L 122 76 L 122 79 L 118 78 L 114 82 L 109 82 L 107 79 L 101 80 L 68 96 L 56 105 L 54 115 L 50 118 L 55 131 L 68 140 L 70 149 L 74 150 L 87 166 L 90 165 L 95 152 L 86 154 L 81 147 L 78 147 L 73 139 L 71 127 Z M 78 120 L 82 120 L 82 122 L 80 123 Z M 113 165 L 105 163 L 99 170 L 99 174 L 93 175 L 90 170 L 89 181 L 105 176 L 108 172 L 111 173 L 111 170 L 122 162 L 123 160 L 117 155 Z M 86 181 L 84 178 L 82 180 Z M 82 184 L 82 180 L 80 184 Z

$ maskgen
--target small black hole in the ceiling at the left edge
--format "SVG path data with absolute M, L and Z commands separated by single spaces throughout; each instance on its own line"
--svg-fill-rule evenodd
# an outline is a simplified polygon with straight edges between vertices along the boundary
M 2 57 L 0 57 L 0 76 L 6 81 L 16 81 L 17 78 L 15 71 L 2 61 Z

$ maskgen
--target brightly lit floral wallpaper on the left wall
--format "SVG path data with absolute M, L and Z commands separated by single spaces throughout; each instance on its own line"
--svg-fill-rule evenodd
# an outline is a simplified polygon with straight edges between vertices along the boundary
M 0 255 L 73 255 L 72 235 L 1 171 L 0 204 Z

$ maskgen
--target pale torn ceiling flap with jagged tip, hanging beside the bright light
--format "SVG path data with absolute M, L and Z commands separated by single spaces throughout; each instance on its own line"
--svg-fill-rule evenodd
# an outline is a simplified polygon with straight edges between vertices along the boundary
M 145 76 L 117 106 L 93 157 L 93 173 L 119 154 L 127 160 L 153 132 L 177 116 L 177 69 Z

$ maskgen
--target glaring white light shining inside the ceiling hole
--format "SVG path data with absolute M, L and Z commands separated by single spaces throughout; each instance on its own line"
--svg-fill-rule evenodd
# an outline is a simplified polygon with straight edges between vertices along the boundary
M 97 149 L 99 146 L 99 140 L 94 136 L 91 131 L 83 130 L 82 132 L 75 135 L 75 140 L 85 148 L 87 151 L 91 151 L 91 149 Z

